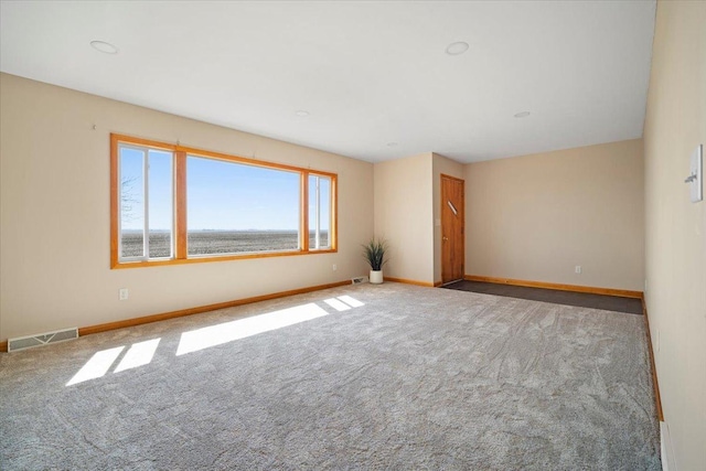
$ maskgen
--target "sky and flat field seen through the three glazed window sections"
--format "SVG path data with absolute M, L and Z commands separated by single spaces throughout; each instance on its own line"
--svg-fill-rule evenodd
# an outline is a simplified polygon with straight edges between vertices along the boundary
M 174 153 L 119 146 L 119 245 L 129 260 L 172 259 L 175 244 Z M 331 248 L 332 180 L 311 173 L 186 156 L 188 256 L 300 250 L 303 215 L 310 250 Z M 147 238 L 146 238 L 147 237 Z

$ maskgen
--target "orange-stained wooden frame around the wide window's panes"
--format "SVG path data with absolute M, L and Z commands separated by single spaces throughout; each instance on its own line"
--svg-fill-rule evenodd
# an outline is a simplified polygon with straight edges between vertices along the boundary
M 173 153 L 173 258 L 170 259 L 148 259 L 138 261 L 120 260 L 120 191 L 119 182 L 119 146 L 121 143 L 147 147 L 149 149 L 165 150 Z M 271 170 L 285 170 L 297 172 L 300 176 L 299 184 L 299 237 L 300 248 L 293 250 L 272 250 L 264 253 L 224 254 L 189 257 L 186 240 L 186 156 L 194 156 L 206 159 L 222 160 L 226 162 L 240 163 Z M 331 234 L 329 235 L 331 246 L 329 248 L 310 249 L 309 247 L 309 175 L 325 176 L 331 179 Z M 297 255 L 331 254 L 338 251 L 338 174 L 303 169 L 295 165 L 265 162 L 261 160 L 248 159 L 245 157 L 231 156 L 221 152 L 213 152 L 203 149 L 195 149 L 179 143 L 171 144 L 149 139 L 133 138 L 130 136 L 110 135 L 110 268 L 139 268 L 156 267 L 164 265 L 201 264 L 208 261 L 228 261 L 250 258 L 288 257 Z

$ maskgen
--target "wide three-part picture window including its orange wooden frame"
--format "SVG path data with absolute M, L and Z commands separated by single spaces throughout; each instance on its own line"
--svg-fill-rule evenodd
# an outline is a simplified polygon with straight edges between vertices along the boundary
M 336 175 L 111 136 L 111 267 L 335 251 Z

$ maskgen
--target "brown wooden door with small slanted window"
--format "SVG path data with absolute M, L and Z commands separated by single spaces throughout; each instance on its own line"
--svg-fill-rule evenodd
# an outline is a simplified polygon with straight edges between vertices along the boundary
M 441 282 L 463 279 L 463 180 L 441 175 Z

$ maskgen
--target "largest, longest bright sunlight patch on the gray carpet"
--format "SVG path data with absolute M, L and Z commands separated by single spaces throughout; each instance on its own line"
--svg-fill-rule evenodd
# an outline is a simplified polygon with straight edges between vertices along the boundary
M 328 314 L 322 308 L 311 302 L 267 314 L 196 329 L 181 334 L 176 355 L 197 352 L 210 346 L 222 345 L 234 340 L 245 339 Z

